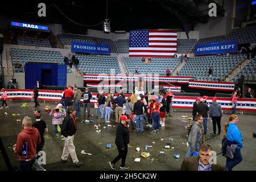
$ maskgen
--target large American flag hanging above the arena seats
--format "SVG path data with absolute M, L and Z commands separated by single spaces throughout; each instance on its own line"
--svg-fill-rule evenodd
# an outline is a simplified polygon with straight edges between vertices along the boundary
M 177 52 L 177 31 L 130 31 L 130 57 L 173 57 Z

